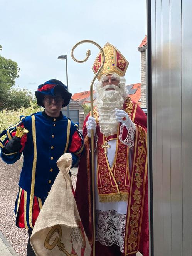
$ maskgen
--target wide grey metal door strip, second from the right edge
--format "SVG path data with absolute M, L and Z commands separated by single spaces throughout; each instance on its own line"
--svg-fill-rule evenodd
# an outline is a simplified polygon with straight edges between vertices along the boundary
M 181 0 L 170 0 L 171 256 L 182 255 L 182 19 Z

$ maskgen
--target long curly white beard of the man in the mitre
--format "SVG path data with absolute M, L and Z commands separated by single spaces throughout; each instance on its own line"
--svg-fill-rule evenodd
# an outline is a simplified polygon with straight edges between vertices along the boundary
M 114 88 L 114 90 L 106 91 L 107 88 Z M 118 121 L 115 116 L 115 108 L 122 109 L 123 103 L 127 96 L 127 92 L 124 86 L 96 85 L 96 104 L 98 109 L 98 120 L 100 131 L 105 136 L 113 135 L 117 133 Z

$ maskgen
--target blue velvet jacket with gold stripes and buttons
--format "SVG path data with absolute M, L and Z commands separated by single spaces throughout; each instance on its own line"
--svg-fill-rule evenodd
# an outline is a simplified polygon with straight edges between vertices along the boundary
M 15 163 L 22 154 L 22 152 L 3 153 L 5 141 L 12 138 L 15 127 L 21 123 L 24 124 L 29 133 L 27 133 L 27 142 L 23 150 L 24 162 L 19 186 L 32 195 L 44 198 L 49 194 L 51 186 L 59 173 L 56 162 L 63 153 L 69 152 L 69 147 L 73 143 L 72 136 L 77 131 L 82 140 L 81 147 L 77 152 L 72 153 L 73 165 L 83 152 L 83 137 L 79 133 L 77 125 L 66 116 L 61 115 L 59 120 L 47 118 L 42 112 L 27 117 L 21 116 L 20 122 L 1 134 L 6 133 L 7 135 L 3 142 L 0 141 L 0 146 L 2 147 L 1 157 L 8 164 Z

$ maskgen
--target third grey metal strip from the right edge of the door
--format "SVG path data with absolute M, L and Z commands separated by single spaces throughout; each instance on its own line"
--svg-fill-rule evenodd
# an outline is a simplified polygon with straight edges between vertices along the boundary
M 170 5 L 162 0 L 162 175 L 163 175 L 163 251 L 171 248 L 170 175 Z

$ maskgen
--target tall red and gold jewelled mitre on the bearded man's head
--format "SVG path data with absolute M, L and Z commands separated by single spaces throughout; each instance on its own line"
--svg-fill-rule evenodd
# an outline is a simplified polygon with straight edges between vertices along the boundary
M 102 75 L 110 75 L 110 74 L 118 74 L 119 76 L 124 76 L 129 65 L 129 62 L 125 59 L 125 57 L 121 54 L 118 49 L 116 49 L 112 44 L 106 43 L 103 47 L 104 55 L 105 55 L 105 63 L 103 70 L 101 70 L 98 80 L 100 80 Z M 99 67 L 101 66 L 103 61 L 103 57 L 101 52 L 99 52 L 96 60 L 93 64 L 93 72 L 96 74 Z

